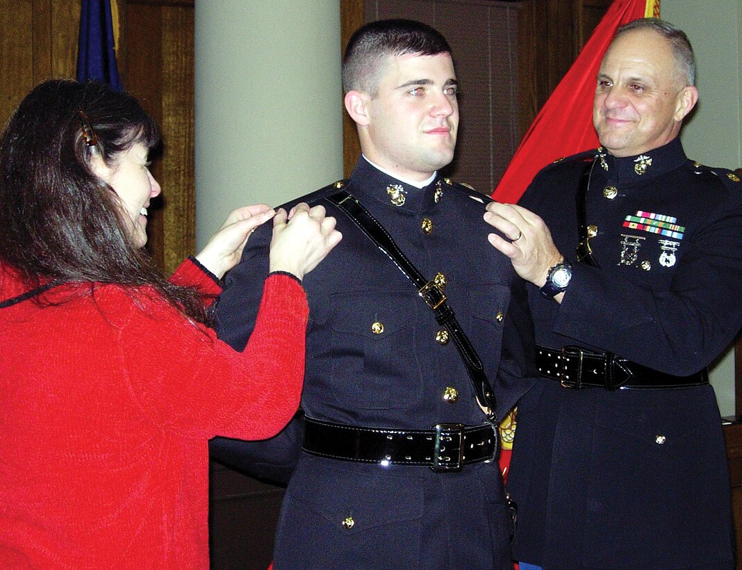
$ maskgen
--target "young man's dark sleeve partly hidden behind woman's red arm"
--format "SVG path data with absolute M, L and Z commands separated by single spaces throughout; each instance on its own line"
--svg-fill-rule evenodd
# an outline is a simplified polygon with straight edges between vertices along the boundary
M 255 326 L 256 298 L 268 273 L 271 232 L 260 226 L 250 237 L 240 263 L 229 272 L 216 307 L 219 338 L 237 350 L 245 346 Z M 298 461 L 303 442 L 301 414 L 277 436 L 260 442 L 217 437 L 209 453 L 218 461 L 251 475 L 287 482 Z

